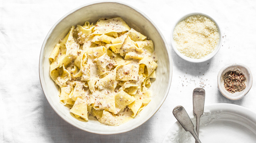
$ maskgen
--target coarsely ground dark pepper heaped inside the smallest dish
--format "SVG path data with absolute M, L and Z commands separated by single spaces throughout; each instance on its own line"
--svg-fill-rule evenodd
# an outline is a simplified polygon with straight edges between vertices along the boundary
M 223 76 L 224 87 L 228 92 L 241 92 L 245 89 L 245 76 L 236 71 L 228 71 Z

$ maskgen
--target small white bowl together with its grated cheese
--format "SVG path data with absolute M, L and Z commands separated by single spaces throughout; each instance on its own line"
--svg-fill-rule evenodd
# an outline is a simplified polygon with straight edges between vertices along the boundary
M 200 63 L 216 55 L 222 44 L 219 25 L 206 14 L 190 13 L 173 27 L 172 48 L 182 59 Z

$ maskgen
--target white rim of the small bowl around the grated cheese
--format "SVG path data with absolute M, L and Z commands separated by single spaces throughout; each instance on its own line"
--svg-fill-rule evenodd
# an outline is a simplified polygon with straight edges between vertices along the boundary
M 219 43 L 218 43 L 219 46 L 217 45 L 217 46 L 216 46 L 216 49 L 214 49 L 214 50 L 212 51 L 212 53 L 210 53 L 210 54 L 204 56 L 203 58 L 199 58 L 199 59 L 192 59 L 192 58 L 190 58 L 190 57 L 187 57 L 187 56 L 181 54 L 181 53 L 178 51 L 178 49 L 176 48 L 175 42 L 174 42 L 174 40 L 173 40 L 173 32 L 174 32 L 175 27 L 176 27 L 182 20 L 184 20 L 184 19 L 186 19 L 187 17 L 192 16 L 192 15 L 203 15 L 203 16 L 209 18 L 211 21 L 213 21 L 213 22 L 215 23 L 215 25 L 217 26 L 217 28 L 218 28 L 219 37 L 220 37 L 220 38 L 219 38 L 219 41 L 218 41 L 218 42 L 219 42 Z M 174 26 L 172 27 L 172 31 L 171 31 L 171 46 L 172 46 L 173 50 L 175 51 L 175 53 L 176 53 L 178 56 L 180 56 L 182 59 L 186 60 L 186 61 L 189 61 L 189 62 L 192 62 L 192 63 L 201 63 L 201 62 L 205 62 L 205 61 L 211 59 L 213 56 L 215 56 L 215 55 L 219 52 L 219 50 L 220 50 L 220 48 L 221 48 L 221 45 L 222 45 L 222 36 L 223 36 L 223 34 L 222 34 L 222 31 L 221 31 L 221 27 L 220 27 L 219 25 L 220 25 L 220 24 L 218 24 L 211 16 L 209 16 L 209 15 L 207 15 L 207 14 L 204 14 L 204 13 L 202 13 L 202 12 L 192 12 L 192 13 L 188 13 L 188 14 L 182 16 L 179 20 L 177 20 L 177 22 L 176 22 L 176 23 L 174 24 Z

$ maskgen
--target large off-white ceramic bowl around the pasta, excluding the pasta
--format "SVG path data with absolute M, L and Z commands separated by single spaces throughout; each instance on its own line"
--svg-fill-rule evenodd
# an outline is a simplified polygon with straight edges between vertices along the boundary
M 50 77 L 50 61 L 48 59 L 59 39 L 65 37 L 72 25 L 97 22 L 100 18 L 121 17 L 135 30 L 154 42 L 158 56 L 157 78 L 152 83 L 151 102 L 132 120 L 119 126 L 107 126 L 98 121 L 80 121 L 74 118 L 69 108 L 59 103 L 58 87 Z M 39 77 L 45 97 L 53 110 L 71 125 L 91 133 L 117 134 L 133 130 L 150 119 L 164 102 L 171 85 L 172 62 L 168 45 L 157 26 L 141 11 L 121 2 L 96 2 L 80 6 L 63 16 L 47 34 L 40 53 Z

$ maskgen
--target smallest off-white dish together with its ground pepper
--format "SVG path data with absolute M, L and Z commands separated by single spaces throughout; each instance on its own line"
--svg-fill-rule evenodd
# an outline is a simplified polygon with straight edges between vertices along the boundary
M 251 71 L 243 64 L 229 64 L 219 71 L 218 88 L 222 95 L 228 99 L 242 99 L 251 89 L 251 86 Z

